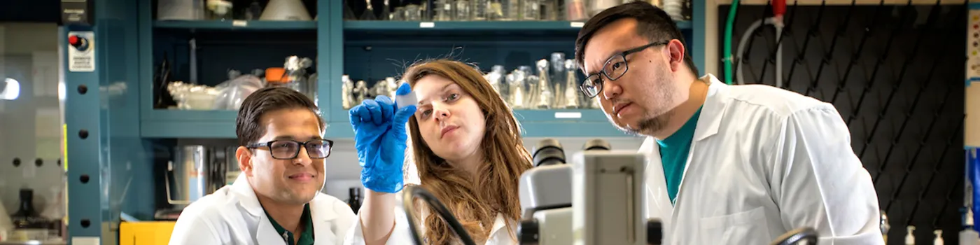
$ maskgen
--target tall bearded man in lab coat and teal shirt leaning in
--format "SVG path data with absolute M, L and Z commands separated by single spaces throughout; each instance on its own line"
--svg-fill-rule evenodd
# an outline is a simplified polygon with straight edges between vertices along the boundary
M 697 76 L 661 9 L 637 1 L 586 23 L 582 91 L 647 137 L 646 203 L 666 244 L 769 244 L 800 227 L 820 244 L 884 244 L 878 198 L 833 105 Z

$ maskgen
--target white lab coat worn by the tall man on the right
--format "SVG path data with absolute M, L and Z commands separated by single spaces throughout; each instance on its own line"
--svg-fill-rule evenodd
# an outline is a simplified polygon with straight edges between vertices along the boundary
M 673 206 L 660 146 L 648 137 L 639 150 L 647 215 L 664 222 L 664 244 L 769 244 L 803 226 L 819 244 L 884 244 L 874 185 L 833 105 L 708 76 Z

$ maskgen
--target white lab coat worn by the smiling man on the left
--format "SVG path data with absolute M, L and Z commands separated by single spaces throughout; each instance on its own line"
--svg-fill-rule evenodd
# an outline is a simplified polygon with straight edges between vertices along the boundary
M 350 206 L 323 193 L 310 202 L 310 215 L 318 245 L 343 244 L 342 235 L 358 221 Z M 187 206 L 173 226 L 170 244 L 286 243 L 272 227 L 245 174 L 241 174 L 231 185 Z

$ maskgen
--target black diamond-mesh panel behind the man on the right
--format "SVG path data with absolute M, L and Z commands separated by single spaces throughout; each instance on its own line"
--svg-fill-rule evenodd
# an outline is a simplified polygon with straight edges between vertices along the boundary
M 769 6 L 739 6 L 732 75 L 741 67 L 744 83 L 776 85 L 781 45 L 780 86 L 834 104 L 850 126 L 890 219 L 889 244 L 905 244 L 907 225 L 916 226 L 917 242 L 931 244 L 933 230 L 943 229 L 956 243 L 966 6 L 787 5 L 779 40 L 773 25 L 762 25 L 737 53 L 748 27 L 771 16 Z M 729 8 L 719 7 L 721 38 Z

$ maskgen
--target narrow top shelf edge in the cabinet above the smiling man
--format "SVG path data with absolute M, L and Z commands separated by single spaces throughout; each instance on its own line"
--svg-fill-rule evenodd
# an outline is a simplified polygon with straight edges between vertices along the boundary
M 156 21 L 155 28 L 211 30 L 317 30 L 317 22 L 286 21 Z

